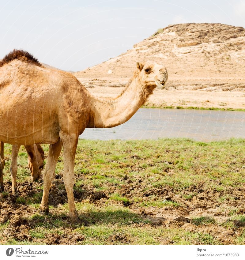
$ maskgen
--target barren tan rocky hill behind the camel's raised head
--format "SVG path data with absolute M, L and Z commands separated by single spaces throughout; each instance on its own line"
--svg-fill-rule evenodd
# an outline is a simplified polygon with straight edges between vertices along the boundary
M 208 23 L 169 25 L 126 53 L 74 75 L 86 86 L 123 86 L 137 61 L 153 60 L 167 67 L 170 89 L 243 90 L 244 42 L 242 27 Z

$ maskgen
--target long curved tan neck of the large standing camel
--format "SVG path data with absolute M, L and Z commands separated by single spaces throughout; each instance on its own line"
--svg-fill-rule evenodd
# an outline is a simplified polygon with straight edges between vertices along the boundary
M 145 89 L 139 77 L 134 77 L 128 88 L 115 99 L 90 95 L 90 120 L 88 128 L 110 128 L 128 121 L 145 103 L 152 92 Z

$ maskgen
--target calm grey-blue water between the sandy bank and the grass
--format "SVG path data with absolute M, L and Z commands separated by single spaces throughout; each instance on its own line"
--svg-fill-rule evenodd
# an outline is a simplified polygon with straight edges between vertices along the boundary
M 245 112 L 140 108 L 126 123 L 113 128 L 85 129 L 83 139 L 131 140 L 190 138 L 220 141 L 245 138 Z

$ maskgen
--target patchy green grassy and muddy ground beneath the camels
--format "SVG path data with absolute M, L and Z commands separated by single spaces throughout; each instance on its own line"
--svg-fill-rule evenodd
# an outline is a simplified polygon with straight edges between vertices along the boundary
M 48 145 L 42 145 L 45 155 Z M 11 146 L 5 145 L 1 244 L 245 245 L 245 139 L 79 140 L 74 197 L 86 226 L 70 224 L 58 158 L 50 214 L 38 208 L 24 147 L 11 196 Z M 45 160 L 46 161 L 46 160 Z

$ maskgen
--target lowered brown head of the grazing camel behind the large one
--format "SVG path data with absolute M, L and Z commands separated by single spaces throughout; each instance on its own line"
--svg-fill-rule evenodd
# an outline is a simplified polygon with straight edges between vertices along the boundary
M 28 151 L 28 166 L 31 171 L 32 181 L 36 181 L 41 176 L 43 169 L 44 152 L 41 145 L 33 145 L 32 151 Z

